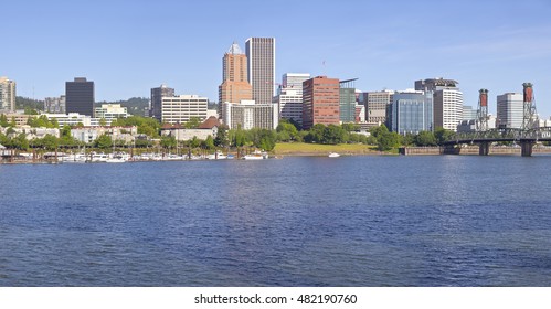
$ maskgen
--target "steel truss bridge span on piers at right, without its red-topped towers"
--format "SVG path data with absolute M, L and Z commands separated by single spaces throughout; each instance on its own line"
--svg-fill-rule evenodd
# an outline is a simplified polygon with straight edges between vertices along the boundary
M 462 145 L 478 145 L 479 154 L 488 156 L 494 142 L 515 142 L 520 145 L 522 157 L 532 156 L 532 148 L 539 141 L 551 141 L 551 128 L 490 129 L 486 131 L 455 134 L 443 143 L 444 153 L 458 154 Z

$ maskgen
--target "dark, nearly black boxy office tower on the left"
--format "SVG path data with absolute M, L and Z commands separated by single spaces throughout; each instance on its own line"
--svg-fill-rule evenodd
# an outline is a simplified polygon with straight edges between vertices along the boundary
M 65 83 L 65 111 L 94 117 L 94 82 L 75 77 Z

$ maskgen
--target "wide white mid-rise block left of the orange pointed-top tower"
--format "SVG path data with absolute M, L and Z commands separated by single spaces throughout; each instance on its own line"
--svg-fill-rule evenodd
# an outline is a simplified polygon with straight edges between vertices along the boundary
M 206 119 L 209 98 L 198 95 L 180 95 L 161 98 L 161 122 L 186 124 L 192 117 Z

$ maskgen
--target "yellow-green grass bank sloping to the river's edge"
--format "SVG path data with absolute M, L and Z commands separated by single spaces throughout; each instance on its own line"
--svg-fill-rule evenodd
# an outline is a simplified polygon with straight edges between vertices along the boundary
M 274 154 L 282 156 L 327 156 L 329 152 L 340 154 L 377 154 L 374 146 L 361 143 L 341 143 L 341 145 L 318 145 L 305 142 L 278 142 L 274 148 Z

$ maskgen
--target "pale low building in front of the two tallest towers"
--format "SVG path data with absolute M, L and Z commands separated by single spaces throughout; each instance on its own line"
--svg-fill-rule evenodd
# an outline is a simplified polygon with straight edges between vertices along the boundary
M 239 104 L 224 102 L 222 110 L 224 124 L 230 129 L 261 128 L 273 130 L 279 124 L 277 104 L 255 104 L 254 100 L 242 100 Z

